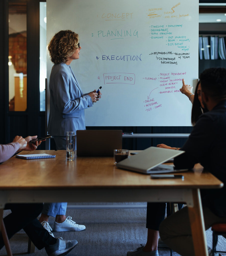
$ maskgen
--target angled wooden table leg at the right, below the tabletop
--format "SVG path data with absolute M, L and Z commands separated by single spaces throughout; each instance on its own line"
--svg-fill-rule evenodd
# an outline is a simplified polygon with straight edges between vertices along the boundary
M 203 208 L 199 189 L 192 190 L 193 207 L 188 207 L 192 238 L 196 256 L 208 256 Z

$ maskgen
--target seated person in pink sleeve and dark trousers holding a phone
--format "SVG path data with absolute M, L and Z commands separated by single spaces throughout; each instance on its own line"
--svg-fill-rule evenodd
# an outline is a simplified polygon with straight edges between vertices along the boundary
M 6 145 L 0 144 L 0 163 L 5 162 L 19 151 L 35 150 L 41 143 L 41 141 L 36 141 L 35 143 L 30 142 L 35 138 L 37 138 L 37 135 L 28 136 L 26 138 L 16 136 L 13 142 Z M 42 203 L 6 204 L 5 209 L 11 210 L 11 213 L 3 219 L 8 238 L 10 239 L 15 233 L 23 229 L 39 250 L 45 248 L 48 256 L 66 255 L 77 245 L 77 240 L 63 240 L 62 238 L 54 238 L 51 236 L 37 219 L 42 208 Z M 21 211 L 21 209 L 23 209 L 23 211 Z M 24 214 L 24 212 L 26 212 L 26 214 Z M 3 246 L 4 241 L 0 232 L 0 250 Z

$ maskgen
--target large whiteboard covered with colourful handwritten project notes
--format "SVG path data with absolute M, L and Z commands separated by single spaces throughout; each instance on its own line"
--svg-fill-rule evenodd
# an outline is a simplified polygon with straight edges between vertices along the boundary
M 191 126 L 180 88 L 198 78 L 198 0 L 47 0 L 47 43 L 66 29 L 80 37 L 82 91 L 102 86 L 86 126 Z M 48 55 L 48 81 L 52 66 Z

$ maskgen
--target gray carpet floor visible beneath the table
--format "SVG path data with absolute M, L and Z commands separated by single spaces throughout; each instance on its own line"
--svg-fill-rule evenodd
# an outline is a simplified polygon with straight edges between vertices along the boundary
M 8 213 L 9 211 L 4 212 L 5 215 Z M 68 215 L 72 216 L 78 224 L 86 226 L 86 230 L 79 232 L 53 232 L 55 237 L 78 241 L 78 245 L 68 256 L 125 256 L 127 251 L 135 250 L 140 244 L 146 243 L 146 209 L 71 209 L 67 210 L 66 216 Z M 50 217 L 49 223 L 53 227 L 53 217 Z M 207 230 L 206 235 L 208 246 L 212 247 L 211 230 Z M 10 239 L 10 245 L 13 254 L 26 254 L 28 245 L 26 233 L 21 230 L 15 234 Z M 219 236 L 217 249 L 226 251 L 226 240 L 221 236 Z M 5 247 L 0 250 L 0 255 L 6 255 Z M 35 248 L 35 253 L 31 256 L 33 255 L 47 254 L 45 249 Z M 159 255 L 170 256 L 170 250 L 159 249 Z M 173 256 L 178 255 L 173 252 Z

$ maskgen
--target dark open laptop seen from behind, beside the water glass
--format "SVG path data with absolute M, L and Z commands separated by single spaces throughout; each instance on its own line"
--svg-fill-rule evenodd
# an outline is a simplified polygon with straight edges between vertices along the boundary
M 113 156 L 122 148 L 122 130 L 78 130 L 77 156 Z

